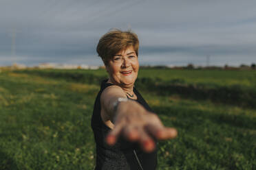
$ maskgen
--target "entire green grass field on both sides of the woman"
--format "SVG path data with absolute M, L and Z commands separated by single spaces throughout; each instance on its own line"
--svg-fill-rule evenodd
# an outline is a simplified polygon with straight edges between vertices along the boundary
M 0 169 L 93 169 L 90 118 L 104 77 L 1 71 Z M 256 71 L 142 69 L 137 88 L 179 133 L 158 143 L 158 169 L 256 169 L 255 81 Z

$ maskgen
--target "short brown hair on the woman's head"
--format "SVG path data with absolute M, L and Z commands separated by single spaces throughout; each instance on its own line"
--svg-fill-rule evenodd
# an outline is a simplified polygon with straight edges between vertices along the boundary
M 138 56 L 139 40 L 137 34 L 131 30 L 123 32 L 120 29 L 111 29 L 98 41 L 97 53 L 106 65 L 116 53 L 130 46 L 134 47 Z

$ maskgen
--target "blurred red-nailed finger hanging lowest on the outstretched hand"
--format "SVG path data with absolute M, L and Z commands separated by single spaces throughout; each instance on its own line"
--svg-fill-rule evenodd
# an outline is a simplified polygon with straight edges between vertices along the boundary
M 153 141 L 153 139 L 150 138 L 149 135 L 144 130 L 140 130 L 139 135 L 140 135 L 139 143 L 142 149 L 146 152 L 153 151 L 156 147 L 156 144 Z

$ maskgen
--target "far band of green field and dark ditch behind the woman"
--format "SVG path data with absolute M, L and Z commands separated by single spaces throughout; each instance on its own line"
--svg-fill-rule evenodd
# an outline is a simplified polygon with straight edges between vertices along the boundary
M 21 70 L 43 77 L 100 84 L 105 70 Z M 193 100 L 211 100 L 222 104 L 256 108 L 256 72 L 226 70 L 140 69 L 136 87 L 157 95 L 180 95 Z

